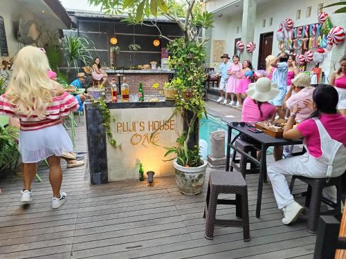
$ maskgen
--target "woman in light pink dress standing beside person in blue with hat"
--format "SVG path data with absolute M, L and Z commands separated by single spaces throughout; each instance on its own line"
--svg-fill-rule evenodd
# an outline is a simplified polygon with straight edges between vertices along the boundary
M 228 93 L 230 93 L 230 103 L 229 105 L 235 105 L 236 102 L 233 101 L 236 93 L 237 86 L 240 81 L 240 73 L 242 71 L 242 65 L 239 63 L 239 56 L 233 55 L 233 62 L 228 66 L 227 75 L 228 82 L 226 87 L 226 97 L 224 104 L 227 104 Z

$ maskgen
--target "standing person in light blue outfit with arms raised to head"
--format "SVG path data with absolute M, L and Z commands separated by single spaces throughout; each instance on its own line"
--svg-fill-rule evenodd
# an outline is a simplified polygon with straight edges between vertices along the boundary
M 279 94 L 271 100 L 271 104 L 275 105 L 277 108 L 277 113 L 280 118 L 284 119 L 284 112 L 282 111 L 282 104 L 284 102 L 284 97 L 287 93 L 287 73 L 289 71 L 289 65 L 287 61 L 289 60 L 289 54 L 286 52 L 278 55 L 276 59 L 271 63 L 271 66 L 276 68 L 273 73 L 272 81 L 277 84 L 277 89 L 280 91 Z

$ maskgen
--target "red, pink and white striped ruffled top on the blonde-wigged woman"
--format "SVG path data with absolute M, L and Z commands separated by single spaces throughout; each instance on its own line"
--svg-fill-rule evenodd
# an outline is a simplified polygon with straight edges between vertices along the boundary
M 0 115 L 19 118 L 21 131 L 35 131 L 40 128 L 60 124 L 60 117 L 69 115 L 71 111 L 77 110 L 78 107 L 77 99 L 73 95 L 65 92 L 63 95 L 52 98 L 52 101 L 46 108 L 44 118 L 39 118 L 37 115 L 27 117 L 16 111 L 16 106 L 10 104 L 10 101 L 6 98 L 6 94 L 0 95 Z

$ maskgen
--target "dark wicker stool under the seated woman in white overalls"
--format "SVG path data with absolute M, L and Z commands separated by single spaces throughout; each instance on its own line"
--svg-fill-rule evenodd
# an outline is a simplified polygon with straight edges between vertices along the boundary
M 303 193 L 292 193 L 295 179 L 308 184 L 307 191 Z M 337 195 L 336 203 L 331 202 L 327 198 L 322 197 L 322 191 L 325 187 L 336 186 Z M 304 214 L 309 217 L 307 222 L 307 230 L 311 233 L 316 233 L 318 217 L 320 215 L 339 215 L 341 214 L 341 176 L 337 178 L 306 178 L 300 175 L 293 175 L 289 189 L 294 198 L 305 198 Z M 320 212 L 321 202 L 334 208 L 325 212 Z

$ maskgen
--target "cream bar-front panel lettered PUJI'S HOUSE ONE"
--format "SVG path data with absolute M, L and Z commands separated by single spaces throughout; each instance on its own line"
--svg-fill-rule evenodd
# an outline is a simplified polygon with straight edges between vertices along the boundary
M 179 113 L 172 117 L 172 107 L 110 111 L 116 118 L 111 131 L 121 148 L 107 142 L 109 182 L 138 179 L 140 163 L 145 172 L 154 171 L 155 177 L 174 175 L 173 162 L 163 161 L 167 160 L 164 157 L 167 150 L 161 146 L 176 146 L 176 138 L 183 128 Z

